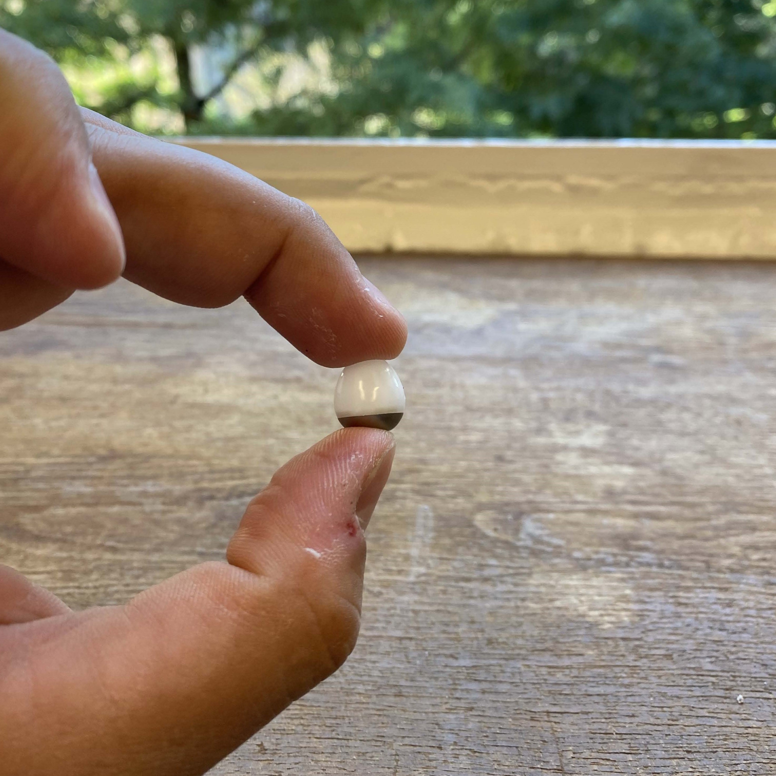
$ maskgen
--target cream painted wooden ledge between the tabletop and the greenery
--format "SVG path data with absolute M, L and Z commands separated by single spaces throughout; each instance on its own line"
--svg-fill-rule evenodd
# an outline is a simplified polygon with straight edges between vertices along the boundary
M 351 251 L 776 258 L 776 143 L 184 138 Z

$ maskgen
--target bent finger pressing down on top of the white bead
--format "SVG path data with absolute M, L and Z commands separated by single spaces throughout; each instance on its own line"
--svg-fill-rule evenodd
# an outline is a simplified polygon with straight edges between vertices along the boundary
M 407 324 L 309 206 L 209 154 L 82 112 L 126 241 L 126 278 L 220 307 L 244 295 L 310 359 L 393 359 Z

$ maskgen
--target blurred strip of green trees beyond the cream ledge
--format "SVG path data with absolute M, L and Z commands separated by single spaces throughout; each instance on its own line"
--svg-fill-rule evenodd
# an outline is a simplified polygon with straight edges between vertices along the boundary
M 776 137 L 776 0 L 0 0 L 160 134 Z

